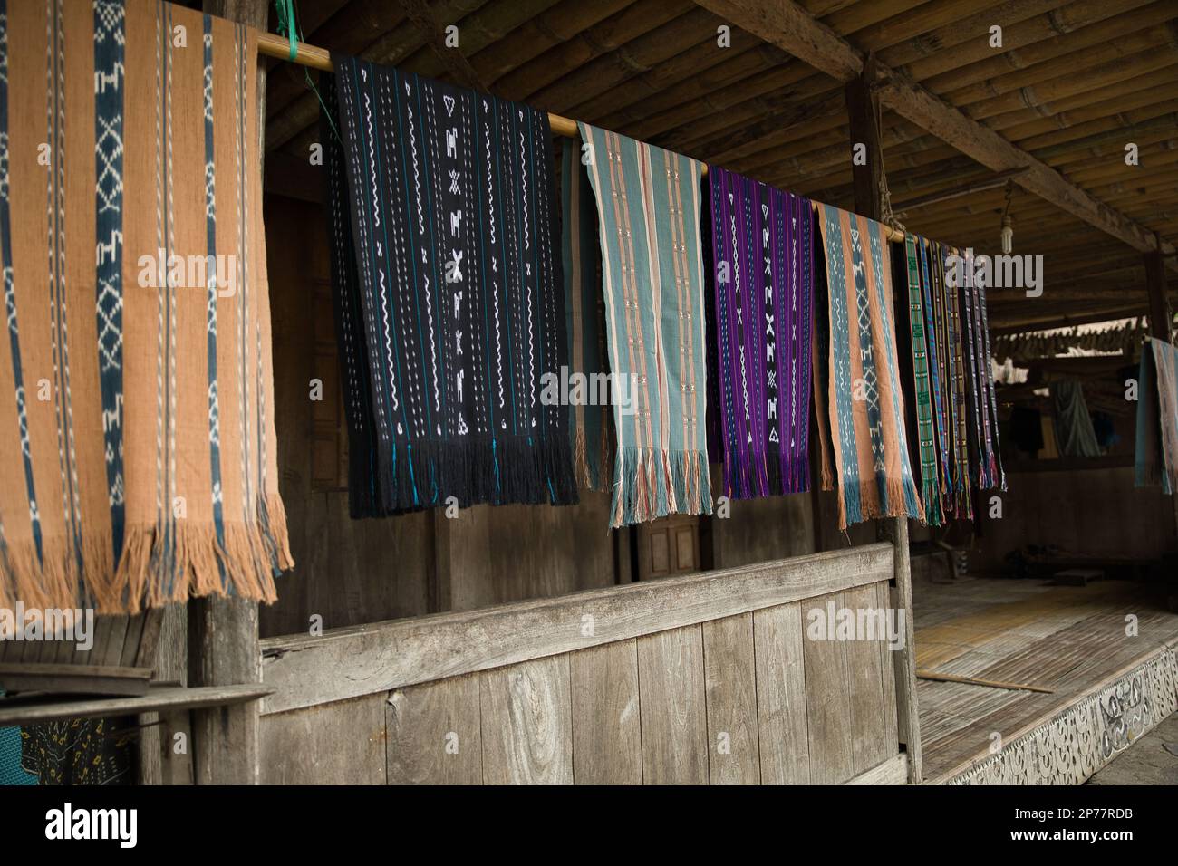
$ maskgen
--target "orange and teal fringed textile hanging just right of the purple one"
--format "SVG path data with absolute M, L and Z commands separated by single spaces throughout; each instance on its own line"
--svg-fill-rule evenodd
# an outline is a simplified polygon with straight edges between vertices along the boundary
M 822 478 L 832 478 L 833 456 L 839 528 L 871 517 L 922 520 L 905 431 L 885 227 L 830 205 L 819 205 L 819 226 L 829 292 L 829 373 L 823 382 L 816 366 L 815 392 L 823 391 L 829 412 L 823 417 L 819 406 Z

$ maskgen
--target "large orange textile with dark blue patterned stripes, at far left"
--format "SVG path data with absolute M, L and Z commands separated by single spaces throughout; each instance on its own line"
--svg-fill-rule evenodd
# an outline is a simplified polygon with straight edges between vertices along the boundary
M 273 600 L 256 33 L 160 2 L 0 14 L 0 607 Z

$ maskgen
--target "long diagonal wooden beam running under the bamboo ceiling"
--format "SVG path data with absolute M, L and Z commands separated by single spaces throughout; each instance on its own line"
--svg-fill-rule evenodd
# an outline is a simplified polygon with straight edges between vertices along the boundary
M 856 78 L 866 57 L 851 42 L 814 20 L 792 0 L 695 0 L 767 42 L 839 81 Z M 993 130 L 962 114 L 948 103 L 913 84 L 888 66 L 876 64 L 875 84 L 880 101 L 896 114 L 933 133 L 992 171 L 1026 167 L 1014 180 L 1027 192 L 1072 213 L 1140 252 L 1159 249 L 1152 231 L 1104 201 L 1074 186 L 1051 166 L 1014 146 Z M 1172 256 L 1172 244 L 1160 243 L 1160 251 Z M 1178 262 L 1166 260 L 1178 270 Z

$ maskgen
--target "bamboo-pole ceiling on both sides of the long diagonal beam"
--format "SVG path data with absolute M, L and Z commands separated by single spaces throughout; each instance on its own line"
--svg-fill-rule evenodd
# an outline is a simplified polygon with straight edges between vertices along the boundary
M 340 0 L 331 2 L 340 6 Z M 376 0 L 343 4 L 322 24 L 324 38 L 310 41 L 340 47 L 329 38 L 343 26 L 337 19 L 362 5 L 377 6 Z M 1159 86 L 1178 72 L 1178 58 L 1169 57 L 1174 28 L 1165 26 L 1173 18 L 1167 18 L 1165 0 L 1010 0 L 980 11 L 967 0 L 901 0 L 886 8 L 849 0 L 800 5 L 836 40 L 856 46 L 860 59 L 874 51 L 901 80 L 911 73 L 967 119 L 986 115 L 977 121 L 980 126 L 1000 133 L 1117 216 L 1144 220 L 1166 237 L 1178 234 L 1178 201 L 1169 183 L 1178 164 L 1178 134 L 1167 130 L 1178 118 L 1178 98 L 1166 100 L 1172 91 Z M 401 14 L 397 4 L 389 6 Z M 523 98 L 812 198 L 851 204 L 841 79 L 763 40 L 732 15 L 716 18 L 715 9 L 707 11 L 708 2 L 444 0 L 429 6 L 442 9 L 437 24 L 459 24 L 461 53 L 483 85 L 502 97 Z M 530 16 L 522 16 L 516 6 L 527 6 Z M 971 22 L 1001 24 L 1006 49 L 981 51 Z M 714 46 L 720 24 L 733 28 L 726 51 Z M 413 27 L 371 38 L 375 32 L 368 27 L 364 53 L 396 45 L 392 62 L 457 79 Z M 364 41 L 359 34 L 353 39 Z M 1145 58 L 1150 51 L 1158 57 Z M 1105 74 L 1077 86 L 1077 75 L 1093 70 Z M 290 86 L 274 80 L 274 88 L 286 88 L 283 98 Z M 1031 99 L 1023 98 L 1025 87 Z M 271 124 L 290 124 L 285 135 L 267 134 L 279 148 L 273 157 L 299 157 L 317 135 L 317 103 L 305 91 L 297 95 L 304 103 L 303 115 L 294 118 L 300 124 L 291 124 L 282 99 L 271 103 Z M 291 135 L 293 125 L 302 128 Z M 962 153 L 902 112 L 887 110 L 882 127 L 893 201 L 909 227 L 993 251 L 1004 190 L 975 190 L 958 198 L 939 193 L 967 185 L 966 178 L 982 186 L 998 183 L 986 171 L 1001 170 L 979 164 L 974 154 Z M 1125 135 L 1140 148 L 1141 164 L 1133 168 L 1113 159 Z M 941 200 L 912 206 L 912 199 L 924 197 Z M 1113 292 L 1132 291 L 1118 284 L 1139 282 L 1140 251 L 1094 227 L 1093 220 L 1021 187 L 1011 213 L 1017 249 L 1066 253 L 1050 277 L 1064 286 L 1055 295 L 1067 297 L 1071 309 L 1080 300 L 1080 280 L 1092 285 L 1091 300 L 1099 303 Z M 1017 308 L 999 303 L 995 310 L 1005 319 L 1018 315 Z

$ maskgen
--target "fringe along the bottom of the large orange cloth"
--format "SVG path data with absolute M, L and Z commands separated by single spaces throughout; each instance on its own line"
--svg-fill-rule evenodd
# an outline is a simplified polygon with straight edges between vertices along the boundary
M 118 567 L 110 533 L 86 535 L 80 551 L 65 536 L 45 538 L 40 557 L 32 541 L 5 546 L 0 607 L 20 601 L 26 608 L 138 614 L 210 595 L 271 603 L 274 577 L 294 562 L 282 497 L 267 494 L 256 508 L 252 522 L 224 525 L 224 543 L 211 522 L 127 527 Z M 173 563 L 166 571 L 165 562 Z

